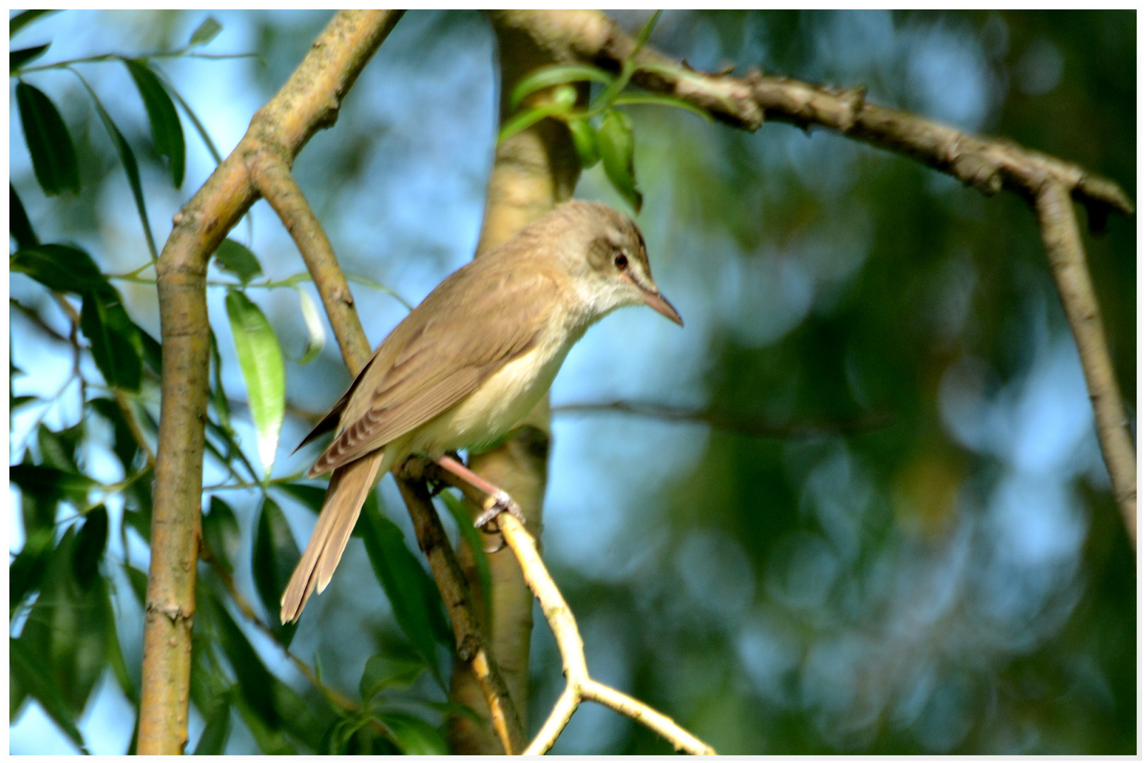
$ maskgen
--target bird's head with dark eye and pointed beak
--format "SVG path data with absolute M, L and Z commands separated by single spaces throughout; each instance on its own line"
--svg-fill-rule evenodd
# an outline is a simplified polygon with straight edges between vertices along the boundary
M 643 233 L 627 215 L 593 201 L 566 201 L 551 213 L 571 246 L 557 247 L 590 319 L 617 308 L 646 304 L 683 325 L 651 277 Z

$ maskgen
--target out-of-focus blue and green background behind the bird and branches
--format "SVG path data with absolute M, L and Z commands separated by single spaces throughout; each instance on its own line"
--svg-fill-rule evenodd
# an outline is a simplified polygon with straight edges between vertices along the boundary
M 46 62 L 172 49 L 206 15 L 73 10 L 29 27 L 18 43 L 50 40 Z M 257 58 L 160 67 L 225 154 L 329 13 L 212 15 L 223 32 L 208 51 Z M 615 14 L 628 29 L 646 16 Z M 1134 11 L 666 11 L 651 42 L 706 71 L 760 66 L 865 85 L 874 103 L 1011 137 L 1110 176 L 1136 198 Z M 336 127 L 301 153 L 295 176 L 347 271 L 416 302 L 471 257 L 496 130 L 495 49 L 477 13 L 406 14 Z M 146 116 L 126 70 L 81 71 L 142 151 Z M 65 72 L 27 80 L 59 105 L 86 189 L 45 198 L 10 119 L 9 177 L 32 224 L 43 240 L 82 245 L 105 272 L 133 270 L 146 248 L 86 94 Z M 594 676 L 721 753 L 1134 753 L 1134 555 L 1026 204 L 1010 193 L 984 198 L 826 132 L 768 124 L 746 134 L 685 112 L 628 111 L 645 193 L 637 220 L 686 328 L 650 310 L 615 313 L 573 349 L 553 386 L 545 555 L 579 618 Z M 214 166 L 185 121 L 184 130 L 182 190 L 141 153 L 160 241 Z M 598 166 L 577 194 L 625 208 Z M 1114 216 L 1086 241 L 1134 431 L 1135 225 Z M 232 237 L 270 276 L 303 270 L 264 202 Z M 66 327 L 31 280 L 14 275 L 9 289 Z M 157 336 L 153 288 L 121 291 L 132 317 Z M 353 293 L 376 344 L 405 309 L 365 286 Z M 241 400 L 223 296 L 212 289 L 212 324 L 228 394 Z M 305 328 L 296 294 L 254 299 L 297 358 Z M 10 342 L 11 359 L 29 372 L 14 394 L 50 396 L 70 353 L 15 311 Z M 288 403 L 320 413 L 348 381 L 331 342 L 315 363 L 287 364 Z M 11 463 L 35 450 L 29 434 L 41 418 L 53 429 L 79 420 L 72 397 L 13 415 Z M 706 411 L 720 426 L 559 411 L 613 400 Z M 241 411 L 236 426 L 253 454 Z M 305 429 L 302 416 L 287 416 L 276 474 L 312 458 L 287 458 Z M 88 474 L 121 477 L 108 447 L 85 448 Z M 222 476 L 208 468 L 205 478 Z M 388 478 L 380 492 L 383 510 L 407 527 Z M 19 496 L 9 494 L 17 551 Z M 256 495 L 228 500 L 248 539 Z M 128 534 L 122 547 L 117 503 L 109 508 L 109 558 L 145 569 L 145 546 Z M 313 515 L 283 508 L 303 545 Z M 251 591 L 245 554 L 237 579 Z M 113 602 L 137 671 L 142 613 L 130 595 Z M 539 612 L 537 622 L 533 728 L 563 686 Z M 21 628 L 17 618 L 9 629 Z M 261 634 L 248 635 L 279 677 L 308 690 Z M 400 638 L 353 540 L 293 651 L 317 654 L 325 679 L 353 693 L 365 659 Z M 76 752 L 34 701 L 13 712 L 11 753 Z M 133 722 L 106 675 L 80 723 L 92 752 L 121 753 Z M 192 746 L 202 723 L 194 713 Z M 241 723 L 227 752 L 256 752 Z M 555 752 L 668 746 L 586 706 Z

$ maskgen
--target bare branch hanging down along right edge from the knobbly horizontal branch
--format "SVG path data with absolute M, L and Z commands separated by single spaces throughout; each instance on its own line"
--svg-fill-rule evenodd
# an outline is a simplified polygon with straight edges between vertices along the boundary
M 1048 178 L 1036 194 L 1036 217 L 1049 256 L 1052 277 L 1060 292 L 1068 326 L 1077 340 L 1085 383 L 1096 414 L 1096 434 L 1104 463 L 1112 477 L 1112 492 L 1120 504 L 1125 530 L 1136 548 L 1136 448 L 1128 430 L 1123 399 L 1109 355 L 1101 308 L 1085 261 L 1072 201 L 1056 180 Z

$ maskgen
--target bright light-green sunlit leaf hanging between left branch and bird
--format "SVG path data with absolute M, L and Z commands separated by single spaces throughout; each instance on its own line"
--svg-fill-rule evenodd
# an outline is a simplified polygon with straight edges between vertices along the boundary
M 270 477 L 286 414 L 286 367 L 278 337 L 267 317 L 241 292 L 227 293 L 227 316 L 235 336 L 238 365 L 246 382 L 251 416 L 259 430 L 259 456 Z

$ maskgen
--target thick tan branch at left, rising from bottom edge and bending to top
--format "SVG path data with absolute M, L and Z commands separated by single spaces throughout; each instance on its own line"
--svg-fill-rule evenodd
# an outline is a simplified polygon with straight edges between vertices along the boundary
M 186 745 L 209 367 L 207 261 L 257 198 L 247 158 L 269 150 L 289 164 L 318 129 L 332 126 L 345 92 L 399 17 L 399 11 L 391 10 L 334 16 L 286 85 L 255 113 L 235 151 L 175 215 L 156 267 L 162 392 L 143 631 L 140 754 L 178 754 Z

